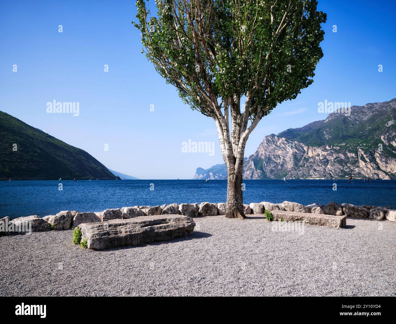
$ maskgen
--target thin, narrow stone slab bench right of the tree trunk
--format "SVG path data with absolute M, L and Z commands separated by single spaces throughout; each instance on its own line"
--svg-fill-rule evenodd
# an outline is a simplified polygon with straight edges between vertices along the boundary
M 324 225 L 329 227 L 344 227 L 346 225 L 346 215 L 333 216 L 326 214 L 310 214 L 306 212 L 287 212 L 283 210 L 271 210 L 274 220 L 283 218 L 286 222 L 296 220 L 310 225 Z

